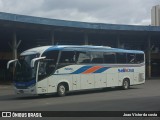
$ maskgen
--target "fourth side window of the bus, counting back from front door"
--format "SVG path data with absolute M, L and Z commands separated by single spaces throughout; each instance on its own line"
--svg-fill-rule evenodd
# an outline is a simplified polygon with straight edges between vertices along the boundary
M 104 63 L 115 63 L 116 53 L 106 52 L 104 53 Z

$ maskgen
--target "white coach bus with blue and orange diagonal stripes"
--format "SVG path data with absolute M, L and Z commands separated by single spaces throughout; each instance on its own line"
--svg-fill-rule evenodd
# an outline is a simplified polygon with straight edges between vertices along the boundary
M 17 94 L 65 96 L 70 91 L 145 83 L 145 54 L 105 46 L 55 45 L 22 52 L 15 66 Z

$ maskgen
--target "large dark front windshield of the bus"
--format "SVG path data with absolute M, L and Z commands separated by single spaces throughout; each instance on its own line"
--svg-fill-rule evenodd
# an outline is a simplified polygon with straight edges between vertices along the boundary
M 39 57 L 38 54 L 20 56 L 15 68 L 14 81 L 27 82 L 35 79 L 37 63 L 34 68 L 31 68 L 31 60 Z

